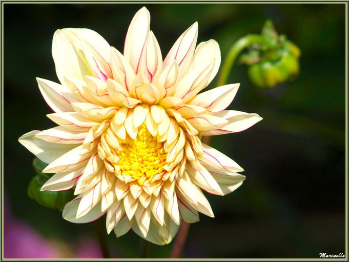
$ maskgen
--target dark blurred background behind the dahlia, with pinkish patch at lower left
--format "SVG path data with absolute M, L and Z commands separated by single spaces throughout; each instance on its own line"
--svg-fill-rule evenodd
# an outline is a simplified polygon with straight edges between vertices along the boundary
M 142 6 L 163 57 L 195 21 L 198 43 L 216 39 L 222 59 L 237 39 L 260 33 L 267 18 L 302 51 L 299 77 L 270 90 L 253 86 L 245 65 L 233 67 L 228 83 L 241 86 L 229 109 L 264 119 L 212 138 L 211 146 L 242 166 L 247 179 L 227 196 L 207 194 L 215 218 L 200 215 L 191 225 L 182 257 L 345 253 L 345 4 L 4 4 L 4 257 L 101 256 L 91 224 L 69 223 L 28 197 L 34 155 L 17 139 L 54 126 L 35 77 L 58 82 L 55 30 L 90 28 L 122 51 Z M 138 257 L 140 237 L 132 230 L 121 238 L 105 234 L 112 257 Z M 172 244 L 151 245 L 150 257 L 167 258 Z

